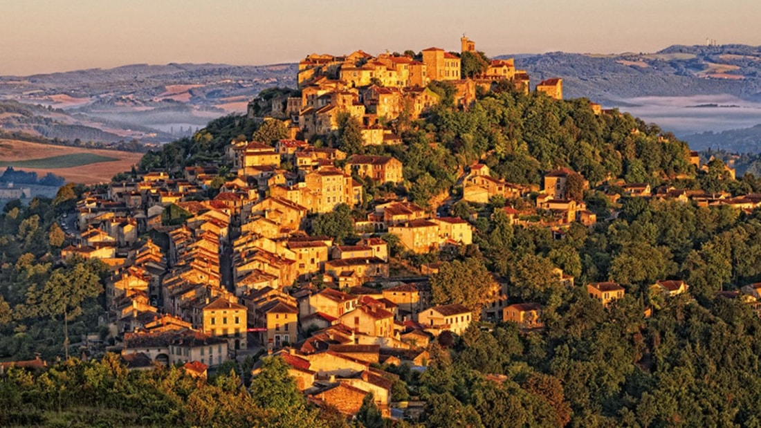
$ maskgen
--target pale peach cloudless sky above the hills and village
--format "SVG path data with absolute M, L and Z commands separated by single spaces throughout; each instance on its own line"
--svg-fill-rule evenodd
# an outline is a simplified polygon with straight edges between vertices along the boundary
M 311 52 L 654 52 L 761 45 L 758 0 L 0 0 L 0 75 Z

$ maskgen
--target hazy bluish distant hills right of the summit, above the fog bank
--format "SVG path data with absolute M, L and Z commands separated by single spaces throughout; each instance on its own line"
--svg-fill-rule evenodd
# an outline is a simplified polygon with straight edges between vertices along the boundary
M 729 94 L 761 102 L 761 46 L 670 46 L 655 53 L 549 52 L 515 57 L 532 84 L 562 77 L 569 98 L 600 103 L 649 96 Z

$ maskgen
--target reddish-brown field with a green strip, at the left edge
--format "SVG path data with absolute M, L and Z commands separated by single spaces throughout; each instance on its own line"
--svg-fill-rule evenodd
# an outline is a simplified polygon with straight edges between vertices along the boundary
M 114 174 L 129 171 L 140 162 L 139 153 L 88 150 L 53 144 L 0 139 L 0 167 L 34 171 L 39 176 L 53 173 L 67 182 L 107 182 Z

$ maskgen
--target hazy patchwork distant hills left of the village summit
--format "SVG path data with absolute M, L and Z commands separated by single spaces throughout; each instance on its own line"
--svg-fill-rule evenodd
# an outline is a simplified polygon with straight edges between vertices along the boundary
M 0 76 L 0 102 L 26 105 L 0 115 L 0 128 L 49 138 L 166 142 L 242 113 L 261 90 L 295 87 L 295 79 L 295 64 L 125 65 Z

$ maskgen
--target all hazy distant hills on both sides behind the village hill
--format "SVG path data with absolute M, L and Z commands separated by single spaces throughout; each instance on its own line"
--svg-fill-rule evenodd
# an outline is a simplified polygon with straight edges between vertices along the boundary
M 677 45 L 654 53 L 549 52 L 496 58 L 505 57 L 514 57 L 517 68 L 530 73 L 532 86 L 545 78 L 562 77 L 565 98 L 586 97 L 603 106 L 619 107 L 648 122 L 658 122 L 680 137 L 687 134 L 692 137 L 706 129 L 718 131 L 761 123 L 761 119 L 755 121 L 755 110 L 749 108 L 709 111 L 682 105 L 671 106 L 666 112 L 662 106 L 651 106 L 652 100 L 640 99 L 721 96 L 753 104 L 751 108 L 759 103 L 761 110 L 759 46 Z M 295 63 L 261 66 L 173 63 L 4 76 L 0 77 L 0 102 L 39 104 L 51 106 L 54 111 L 35 112 L 44 119 L 21 120 L 0 115 L 0 128 L 51 138 L 172 141 L 191 135 L 209 120 L 244 112 L 247 102 L 263 89 L 296 87 L 297 68 Z M 694 104 L 702 103 L 699 100 Z M 645 111 L 647 108 L 651 110 Z M 719 116 L 724 115 L 736 120 L 723 121 Z M 50 125 L 49 120 L 56 125 Z M 706 138 L 686 140 L 696 147 L 724 144 Z M 761 150 L 753 144 L 743 144 L 747 150 Z

